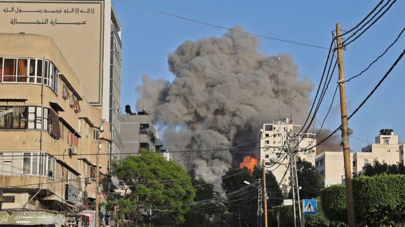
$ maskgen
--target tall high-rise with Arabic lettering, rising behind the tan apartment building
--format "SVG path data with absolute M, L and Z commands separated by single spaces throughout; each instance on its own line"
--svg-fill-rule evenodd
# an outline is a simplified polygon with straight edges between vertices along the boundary
M 83 84 L 77 92 L 110 122 L 112 153 L 120 137 L 121 25 L 111 0 L 0 0 L 0 33 L 51 37 Z M 38 56 L 41 58 L 41 56 Z

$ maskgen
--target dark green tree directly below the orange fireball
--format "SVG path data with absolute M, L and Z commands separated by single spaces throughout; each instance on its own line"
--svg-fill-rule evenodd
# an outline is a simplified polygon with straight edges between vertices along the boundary
M 257 182 L 262 179 L 262 170 L 255 168 L 251 174 L 248 169 L 234 168 L 229 170 L 223 177 L 223 188 L 226 192 L 228 209 L 234 214 L 231 226 L 238 226 L 240 221 L 243 226 L 257 226 Z M 253 185 L 247 185 L 248 181 Z M 255 187 L 256 186 L 256 187 Z M 266 173 L 267 206 L 277 206 L 283 202 L 283 193 L 279 183 L 271 172 Z

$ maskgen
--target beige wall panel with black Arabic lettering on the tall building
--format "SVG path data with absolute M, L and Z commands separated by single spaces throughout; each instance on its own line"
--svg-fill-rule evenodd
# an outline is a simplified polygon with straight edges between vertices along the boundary
M 103 0 L 0 0 L 0 33 L 51 37 L 80 84 L 94 91 L 88 93 L 89 102 L 101 104 L 103 11 Z

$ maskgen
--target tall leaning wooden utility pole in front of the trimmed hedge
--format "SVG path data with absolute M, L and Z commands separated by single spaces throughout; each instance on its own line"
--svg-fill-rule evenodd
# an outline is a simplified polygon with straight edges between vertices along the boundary
M 336 24 L 336 43 L 338 52 L 338 69 L 339 69 L 339 91 L 340 91 L 340 113 L 342 117 L 342 144 L 343 144 L 343 159 L 344 159 L 344 175 L 346 184 L 346 204 L 347 204 L 347 220 L 349 227 L 355 227 L 355 208 L 353 202 L 353 186 L 352 186 L 352 171 L 350 170 L 350 147 L 349 147 L 349 132 L 347 123 L 346 110 L 346 91 L 344 87 L 344 71 L 343 71 L 343 54 L 342 54 L 342 39 L 340 37 L 340 24 Z

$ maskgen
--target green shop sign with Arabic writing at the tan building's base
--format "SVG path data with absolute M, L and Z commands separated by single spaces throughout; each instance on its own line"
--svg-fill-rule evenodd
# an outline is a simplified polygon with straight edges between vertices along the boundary
M 2 224 L 65 224 L 65 215 L 49 212 L 0 212 Z

